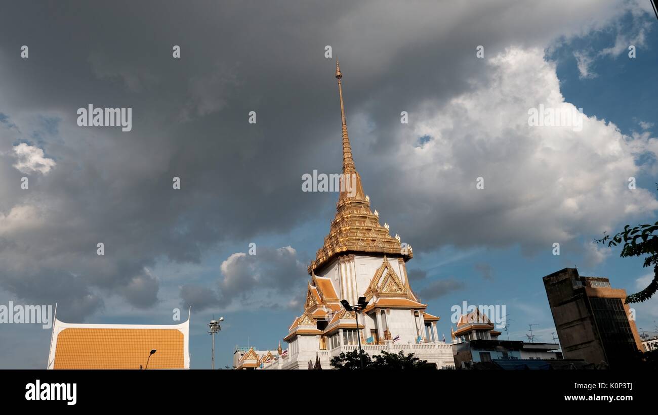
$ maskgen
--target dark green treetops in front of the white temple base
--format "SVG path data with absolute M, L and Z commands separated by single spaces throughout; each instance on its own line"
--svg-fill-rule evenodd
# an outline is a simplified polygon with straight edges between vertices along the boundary
M 334 356 L 330 362 L 331 366 L 336 369 L 360 369 L 361 361 L 359 360 L 359 352 L 349 351 Z M 406 355 L 400 351 L 399 353 L 388 353 L 382 350 L 380 355 L 370 357 L 368 353 L 363 353 L 363 368 L 365 369 L 425 369 L 434 368 L 435 365 L 428 364 L 427 360 L 420 360 L 414 357 L 413 353 Z

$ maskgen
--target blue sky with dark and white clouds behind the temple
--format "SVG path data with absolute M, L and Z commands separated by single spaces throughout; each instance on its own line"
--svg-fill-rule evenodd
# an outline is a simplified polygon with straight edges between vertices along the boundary
M 276 349 L 335 214 L 301 185 L 340 173 L 339 58 L 363 188 L 439 336 L 467 301 L 505 305 L 503 339 L 551 341 L 542 276 L 651 280 L 592 241 L 658 220 L 657 36 L 649 0 L 3 3 L 0 304 L 125 324 L 191 307 L 191 368 L 220 316 L 217 366 Z M 132 108 L 132 129 L 79 126 L 89 104 Z M 582 108 L 582 129 L 528 125 L 540 105 Z M 655 330 L 658 299 L 634 308 Z M 0 368 L 45 367 L 50 335 L 0 324 Z

